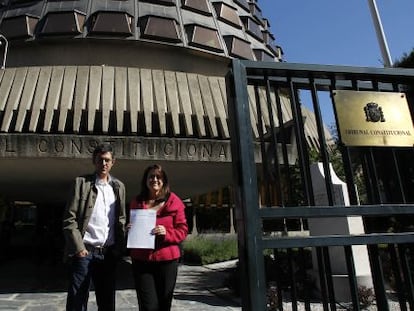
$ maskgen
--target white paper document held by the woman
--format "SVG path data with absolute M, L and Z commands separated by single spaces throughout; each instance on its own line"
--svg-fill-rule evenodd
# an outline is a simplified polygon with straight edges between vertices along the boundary
M 127 248 L 155 248 L 155 227 L 157 211 L 151 209 L 132 209 L 130 214 Z

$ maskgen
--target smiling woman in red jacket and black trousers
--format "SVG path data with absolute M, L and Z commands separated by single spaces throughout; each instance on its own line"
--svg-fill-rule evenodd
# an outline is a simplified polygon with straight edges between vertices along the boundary
M 168 178 L 160 165 L 149 166 L 142 178 L 141 193 L 130 209 L 153 209 L 157 219 L 152 234 L 154 249 L 131 249 L 132 270 L 140 311 L 171 309 L 177 279 L 180 246 L 188 227 L 184 203 L 170 191 Z

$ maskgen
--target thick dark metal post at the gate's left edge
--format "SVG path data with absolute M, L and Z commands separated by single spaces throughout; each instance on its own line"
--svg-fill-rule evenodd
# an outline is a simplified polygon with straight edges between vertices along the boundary
M 235 194 L 242 309 L 266 310 L 266 285 L 247 76 L 239 60 L 227 75 L 227 102 Z

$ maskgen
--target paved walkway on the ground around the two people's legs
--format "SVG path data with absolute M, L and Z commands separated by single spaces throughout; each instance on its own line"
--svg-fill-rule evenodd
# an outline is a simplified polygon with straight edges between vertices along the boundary
M 208 266 L 181 265 L 173 301 L 173 311 L 231 311 L 241 310 L 240 300 L 225 287 L 228 268 L 235 261 Z M 120 267 L 117 290 L 117 311 L 137 311 L 137 299 L 133 290 L 128 264 Z M 25 269 L 36 269 L 30 280 L 24 278 Z M 43 266 L 24 266 L 18 271 L 0 269 L 0 310 L 62 311 L 65 310 L 65 281 L 61 269 Z M 10 273 L 8 273 L 10 272 Z M 36 273 L 37 272 L 37 273 Z M 48 275 L 46 274 L 48 273 Z M 36 275 L 39 277 L 36 278 Z M 55 280 L 54 289 L 50 279 Z M 36 288 L 36 290 L 34 289 Z M 89 311 L 97 310 L 95 295 L 91 292 Z

